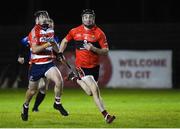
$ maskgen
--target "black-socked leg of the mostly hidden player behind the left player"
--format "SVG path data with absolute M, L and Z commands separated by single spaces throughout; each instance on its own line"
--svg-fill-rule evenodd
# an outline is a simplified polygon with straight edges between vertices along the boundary
M 47 79 L 45 79 L 45 78 L 40 79 L 39 86 L 38 86 L 39 91 L 36 95 L 35 103 L 34 103 L 34 106 L 32 109 L 33 112 L 39 111 L 38 107 L 45 98 L 46 86 L 48 86 L 48 85 L 49 85 L 49 81 Z

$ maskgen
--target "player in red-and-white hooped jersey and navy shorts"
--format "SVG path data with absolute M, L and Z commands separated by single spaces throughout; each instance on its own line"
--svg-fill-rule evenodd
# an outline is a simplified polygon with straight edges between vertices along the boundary
M 54 64 L 54 54 L 59 52 L 59 48 L 54 40 L 54 30 L 48 29 L 49 15 L 47 11 L 37 11 L 35 13 L 35 26 L 28 35 L 31 50 L 31 67 L 29 69 L 29 86 L 26 91 L 25 102 L 21 112 L 21 118 L 28 120 L 29 103 L 38 89 L 41 78 L 53 81 L 55 101 L 54 108 L 63 116 L 67 116 L 68 112 L 61 104 L 61 95 L 63 91 L 63 79 L 60 71 Z

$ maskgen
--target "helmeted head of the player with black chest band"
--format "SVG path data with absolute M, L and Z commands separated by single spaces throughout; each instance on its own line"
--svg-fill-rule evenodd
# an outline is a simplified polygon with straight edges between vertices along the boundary
M 91 9 L 85 9 L 83 10 L 82 14 L 82 23 L 87 28 L 92 28 L 95 25 L 95 13 Z

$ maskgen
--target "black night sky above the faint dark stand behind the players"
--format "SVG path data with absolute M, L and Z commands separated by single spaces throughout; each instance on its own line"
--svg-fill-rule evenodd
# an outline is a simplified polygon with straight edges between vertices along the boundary
M 37 10 L 47 10 L 56 24 L 75 24 L 85 8 L 95 10 L 99 24 L 180 21 L 179 5 L 173 0 L 6 0 L 1 4 L 0 24 L 32 24 Z

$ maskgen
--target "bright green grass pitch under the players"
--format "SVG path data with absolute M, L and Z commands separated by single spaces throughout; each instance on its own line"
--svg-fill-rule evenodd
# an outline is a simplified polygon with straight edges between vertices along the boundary
M 29 120 L 20 118 L 25 90 L 0 89 L 0 128 L 180 128 L 180 90 L 101 89 L 106 109 L 116 115 L 106 124 L 92 97 L 81 89 L 64 89 L 62 103 L 70 115 L 53 109 L 53 90 Z

